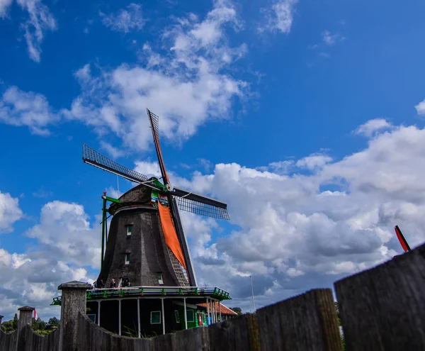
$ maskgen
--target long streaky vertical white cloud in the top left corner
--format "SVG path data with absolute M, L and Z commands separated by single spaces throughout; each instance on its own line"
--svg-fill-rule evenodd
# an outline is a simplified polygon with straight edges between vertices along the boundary
M 41 0 L 16 0 L 25 11 L 28 11 L 28 20 L 23 23 L 28 53 L 31 60 L 40 62 L 41 43 L 47 30 L 56 30 L 55 17 Z

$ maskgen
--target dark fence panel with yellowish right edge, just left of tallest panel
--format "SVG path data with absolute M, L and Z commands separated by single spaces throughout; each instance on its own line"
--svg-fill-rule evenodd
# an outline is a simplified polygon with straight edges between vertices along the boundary
M 256 312 L 261 350 L 341 351 L 331 289 L 314 289 Z

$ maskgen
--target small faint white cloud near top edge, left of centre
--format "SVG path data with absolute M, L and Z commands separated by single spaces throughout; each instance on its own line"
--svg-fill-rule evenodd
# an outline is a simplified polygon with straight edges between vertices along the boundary
M 111 27 L 117 32 L 129 33 L 131 30 L 142 30 L 146 19 L 142 16 L 142 5 L 130 4 L 125 9 L 120 9 L 117 13 L 100 13 L 103 18 L 102 23 L 106 27 Z

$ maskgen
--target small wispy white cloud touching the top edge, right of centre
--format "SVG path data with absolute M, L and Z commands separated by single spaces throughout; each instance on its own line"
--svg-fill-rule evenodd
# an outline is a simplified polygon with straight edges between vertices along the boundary
M 293 25 L 293 14 L 297 0 L 278 0 L 270 7 L 261 9 L 265 15 L 265 22 L 259 27 L 259 31 L 265 30 L 281 33 L 289 33 Z

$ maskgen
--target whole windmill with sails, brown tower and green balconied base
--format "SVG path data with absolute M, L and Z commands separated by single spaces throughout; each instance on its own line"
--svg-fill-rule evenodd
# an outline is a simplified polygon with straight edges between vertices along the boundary
M 181 208 L 229 219 L 227 205 L 171 187 L 159 147 L 158 117 L 147 112 L 162 182 L 83 146 L 84 162 L 139 184 L 119 199 L 106 193 L 102 196 L 101 272 L 97 279 L 101 289 L 87 294 L 87 314 L 95 323 L 119 335 L 138 337 L 220 321 L 221 309 L 225 310 L 220 301 L 230 299 L 229 293 L 218 287 L 196 284 L 179 215 Z M 107 207 L 108 203 L 111 206 Z M 109 230 L 108 216 L 112 216 Z

